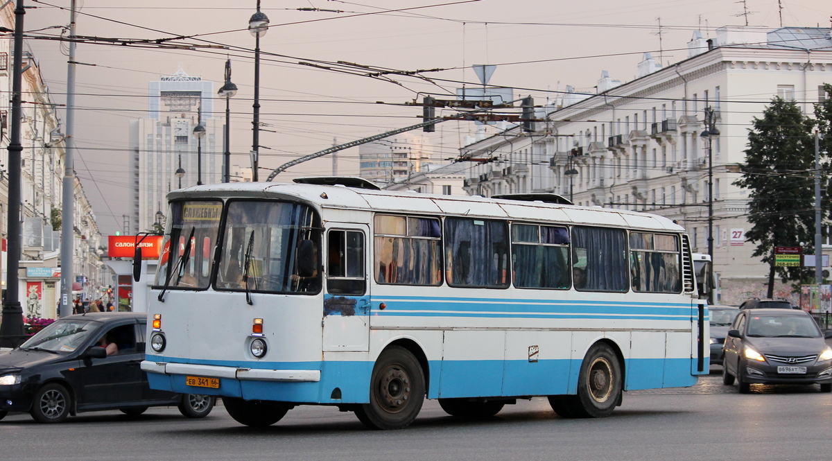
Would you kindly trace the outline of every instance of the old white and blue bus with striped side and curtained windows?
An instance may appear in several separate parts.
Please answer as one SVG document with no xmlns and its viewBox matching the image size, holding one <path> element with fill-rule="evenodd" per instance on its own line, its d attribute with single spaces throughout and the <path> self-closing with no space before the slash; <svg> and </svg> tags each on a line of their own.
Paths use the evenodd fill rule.
<svg viewBox="0 0 832 461">
<path fill-rule="evenodd" d="M 358 178 L 169 194 L 141 369 L 241 424 L 301 404 L 401 429 L 425 398 L 486 417 L 547 396 L 603 417 L 708 373 L 685 231 L 558 196 L 379 191 Z"/>
</svg>

